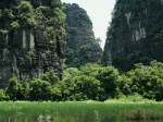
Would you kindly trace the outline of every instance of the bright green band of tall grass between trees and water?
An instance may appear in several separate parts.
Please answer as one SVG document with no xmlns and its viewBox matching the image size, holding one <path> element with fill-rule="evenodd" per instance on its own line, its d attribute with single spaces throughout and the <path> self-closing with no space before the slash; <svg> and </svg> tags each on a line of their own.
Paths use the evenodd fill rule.
<svg viewBox="0 0 163 122">
<path fill-rule="evenodd" d="M 163 102 L 30 102 L 1 101 L 0 117 L 51 114 L 59 117 L 92 118 L 108 120 L 163 120 Z"/>
</svg>

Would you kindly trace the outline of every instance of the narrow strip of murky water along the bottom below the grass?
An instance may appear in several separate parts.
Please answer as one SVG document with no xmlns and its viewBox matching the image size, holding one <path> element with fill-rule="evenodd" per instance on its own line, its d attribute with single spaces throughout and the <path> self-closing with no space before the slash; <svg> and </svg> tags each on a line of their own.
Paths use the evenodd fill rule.
<svg viewBox="0 0 163 122">
<path fill-rule="evenodd" d="M 121 120 L 121 119 L 109 119 L 109 118 L 97 118 L 96 115 L 73 115 L 73 117 L 61 117 L 54 115 L 53 120 L 38 120 L 37 115 L 34 117 L 3 117 L 0 118 L 0 122 L 163 122 L 163 120 Z"/>
</svg>

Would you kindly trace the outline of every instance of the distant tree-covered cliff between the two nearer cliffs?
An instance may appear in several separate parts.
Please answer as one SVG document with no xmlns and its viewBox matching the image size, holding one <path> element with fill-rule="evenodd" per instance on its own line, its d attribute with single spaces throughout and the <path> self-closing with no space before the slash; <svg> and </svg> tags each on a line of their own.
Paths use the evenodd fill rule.
<svg viewBox="0 0 163 122">
<path fill-rule="evenodd" d="M 65 64 L 67 66 L 80 66 L 85 63 L 98 63 L 102 49 L 95 38 L 92 23 L 87 12 L 78 4 L 63 4 L 66 9 L 66 49 Z"/>
</svg>

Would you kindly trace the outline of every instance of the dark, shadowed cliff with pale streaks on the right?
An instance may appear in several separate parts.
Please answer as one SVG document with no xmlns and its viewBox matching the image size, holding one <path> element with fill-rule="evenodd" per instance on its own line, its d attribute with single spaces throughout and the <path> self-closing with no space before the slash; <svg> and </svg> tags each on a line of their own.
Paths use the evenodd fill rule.
<svg viewBox="0 0 163 122">
<path fill-rule="evenodd" d="M 129 70 L 163 60 L 163 0 L 116 0 L 102 62 Z"/>
</svg>

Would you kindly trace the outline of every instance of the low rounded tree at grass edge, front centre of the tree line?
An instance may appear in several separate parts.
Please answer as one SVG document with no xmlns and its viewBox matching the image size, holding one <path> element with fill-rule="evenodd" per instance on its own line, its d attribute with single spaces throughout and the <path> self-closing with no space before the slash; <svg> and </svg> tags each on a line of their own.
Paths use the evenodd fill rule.
<svg viewBox="0 0 163 122">
<path fill-rule="evenodd" d="M 74 84 L 76 86 L 74 91 L 76 100 L 103 100 L 104 89 L 99 80 L 82 75 L 75 77 Z"/>
</svg>

